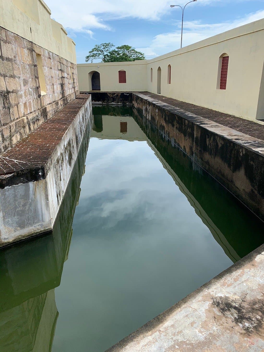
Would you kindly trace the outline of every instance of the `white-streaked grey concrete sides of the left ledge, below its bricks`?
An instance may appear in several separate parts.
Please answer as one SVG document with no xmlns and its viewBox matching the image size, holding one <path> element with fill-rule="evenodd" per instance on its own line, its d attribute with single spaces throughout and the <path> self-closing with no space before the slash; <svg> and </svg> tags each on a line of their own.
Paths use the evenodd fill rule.
<svg viewBox="0 0 264 352">
<path fill-rule="evenodd" d="M 40 179 L 0 190 L 0 246 L 52 230 L 87 124 L 90 128 L 90 99 L 81 107 L 44 169 L 39 169 Z"/>
</svg>

